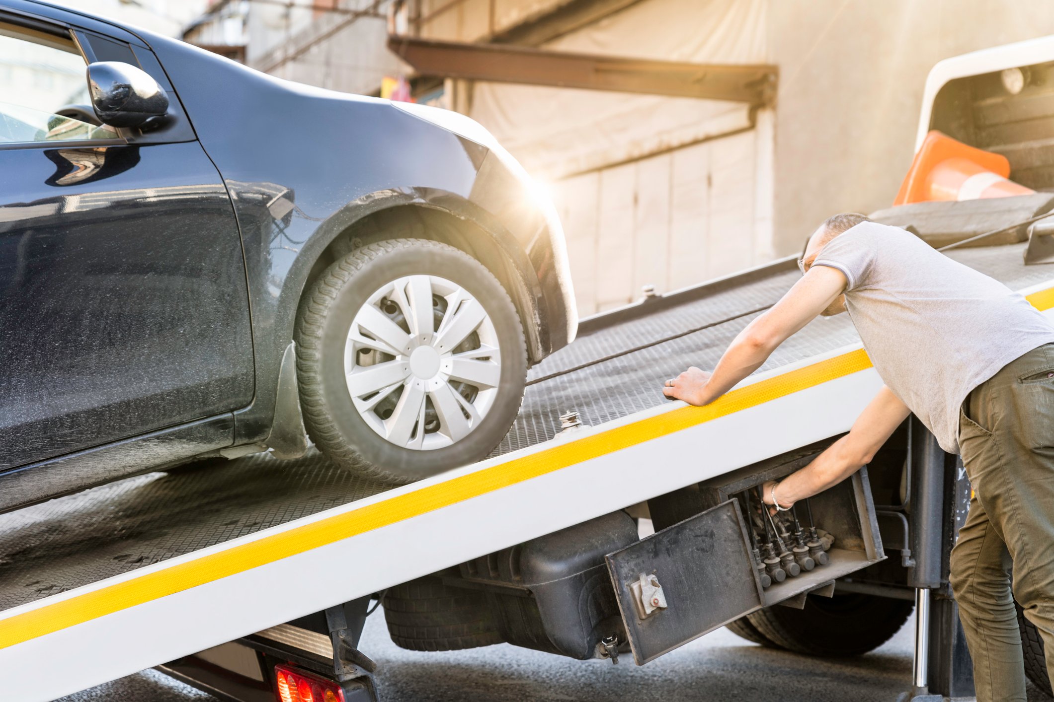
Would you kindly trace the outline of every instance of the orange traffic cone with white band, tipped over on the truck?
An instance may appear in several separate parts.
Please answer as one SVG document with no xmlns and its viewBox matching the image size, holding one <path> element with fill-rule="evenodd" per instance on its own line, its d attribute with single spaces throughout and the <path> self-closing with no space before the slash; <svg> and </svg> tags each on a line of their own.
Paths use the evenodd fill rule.
<svg viewBox="0 0 1054 702">
<path fill-rule="evenodd" d="M 934 129 L 900 184 L 894 205 L 932 200 L 978 200 L 1029 195 L 1010 176 L 1006 156 L 968 146 Z"/>
</svg>

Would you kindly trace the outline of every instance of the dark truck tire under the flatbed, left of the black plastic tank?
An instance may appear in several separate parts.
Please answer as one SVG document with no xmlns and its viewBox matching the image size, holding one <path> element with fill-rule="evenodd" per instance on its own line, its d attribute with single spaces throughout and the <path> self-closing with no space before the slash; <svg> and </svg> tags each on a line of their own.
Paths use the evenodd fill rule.
<svg viewBox="0 0 1054 702">
<path fill-rule="evenodd" d="M 384 597 L 388 634 L 409 650 L 461 650 L 503 643 L 483 590 L 450 587 L 426 576 Z"/>
</svg>

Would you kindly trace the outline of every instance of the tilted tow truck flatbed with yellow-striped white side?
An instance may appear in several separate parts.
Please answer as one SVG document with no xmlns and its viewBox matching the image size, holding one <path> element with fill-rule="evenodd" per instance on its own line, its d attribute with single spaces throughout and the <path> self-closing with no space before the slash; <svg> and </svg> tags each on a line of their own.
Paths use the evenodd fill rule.
<svg viewBox="0 0 1054 702">
<path fill-rule="evenodd" d="M 1054 267 L 1022 252 L 952 256 L 1054 308 Z M 0 670 L 47 671 L 5 695 L 90 687 L 846 430 L 881 381 L 844 315 L 707 407 L 662 396 L 797 276 L 787 260 L 587 320 L 492 457 L 413 485 L 256 456 L 0 516 Z M 592 426 L 558 436 L 568 409 Z"/>
</svg>

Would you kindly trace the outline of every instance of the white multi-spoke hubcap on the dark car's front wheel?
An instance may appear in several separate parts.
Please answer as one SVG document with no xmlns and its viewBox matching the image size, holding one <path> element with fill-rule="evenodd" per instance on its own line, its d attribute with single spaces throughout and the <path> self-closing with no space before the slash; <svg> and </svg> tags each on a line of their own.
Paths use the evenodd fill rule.
<svg viewBox="0 0 1054 702">
<path fill-rule="evenodd" d="M 345 344 L 359 416 L 397 446 L 449 446 L 493 405 L 502 375 L 494 325 L 463 287 L 438 276 L 382 286 L 355 314 Z"/>
</svg>

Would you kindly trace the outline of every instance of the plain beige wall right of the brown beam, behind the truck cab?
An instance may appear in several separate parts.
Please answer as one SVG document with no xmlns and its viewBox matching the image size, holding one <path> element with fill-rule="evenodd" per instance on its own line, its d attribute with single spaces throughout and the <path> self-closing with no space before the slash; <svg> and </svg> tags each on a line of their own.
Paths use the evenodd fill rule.
<svg viewBox="0 0 1054 702">
<path fill-rule="evenodd" d="M 937 61 L 1054 34 L 1054 2 L 769 0 L 768 19 L 780 67 L 775 236 L 786 255 L 832 214 L 892 204 Z"/>
</svg>

